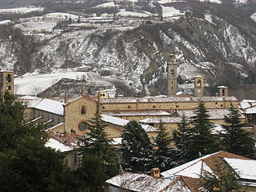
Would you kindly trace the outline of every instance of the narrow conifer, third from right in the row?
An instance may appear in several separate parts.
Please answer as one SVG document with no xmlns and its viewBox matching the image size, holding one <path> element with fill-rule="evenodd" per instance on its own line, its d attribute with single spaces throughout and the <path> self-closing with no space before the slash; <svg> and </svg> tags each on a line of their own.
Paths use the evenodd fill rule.
<svg viewBox="0 0 256 192">
<path fill-rule="evenodd" d="M 173 141 L 175 143 L 175 152 L 173 154 L 176 166 L 189 162 L 189 148 L 192 142 L 192 129 L 189 128 L 189 122 L 185 115 L 182 115 L 182 122 L 178 123 L 178 129 L 173 132 Z"/>
</svg>

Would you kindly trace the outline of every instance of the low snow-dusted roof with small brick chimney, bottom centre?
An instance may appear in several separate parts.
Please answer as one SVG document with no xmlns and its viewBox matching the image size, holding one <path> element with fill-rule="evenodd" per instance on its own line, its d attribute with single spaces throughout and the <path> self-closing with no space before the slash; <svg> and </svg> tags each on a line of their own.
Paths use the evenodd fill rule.
<svg viewBox="0 0 256 192">
<path fill-rule="evenodd" d="M 122 187 L 126 190 L 132 191 L 161 191 L 165 187 L 175 180 L 175 177 L 171 179 L 162 179 L 156 177 L 150 177 L 146 174 L 140 173 L 123 173 L 119 174 L 116 177 L 112 177 L 109 180 L 106 180 L 106 183 L 109 183 L 116 187 Z"/>
</svg>

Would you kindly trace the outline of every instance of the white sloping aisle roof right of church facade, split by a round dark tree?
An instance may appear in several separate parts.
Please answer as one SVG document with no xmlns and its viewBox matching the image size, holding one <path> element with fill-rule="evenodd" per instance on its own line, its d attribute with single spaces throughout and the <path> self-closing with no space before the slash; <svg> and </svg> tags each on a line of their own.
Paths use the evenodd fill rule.
<svg viewBox="0 0 256 192">
<path fill-rule="evenodd" d="M 123 119 L 123 118 L 116 118 L 110 115 L 104 115 L 102 114 L 102 121 L 104 122 L 109 122 L 113 125 L 119 125 L 124 127 L 128 122 L 130 122 L 129 120 Z M 155 129 L 154 127 L 150 126 L 150 125 L 141 125 L 141 127 L 146 131 L 146 132 L 157 132 L 157 129 Z"/>
</svg>

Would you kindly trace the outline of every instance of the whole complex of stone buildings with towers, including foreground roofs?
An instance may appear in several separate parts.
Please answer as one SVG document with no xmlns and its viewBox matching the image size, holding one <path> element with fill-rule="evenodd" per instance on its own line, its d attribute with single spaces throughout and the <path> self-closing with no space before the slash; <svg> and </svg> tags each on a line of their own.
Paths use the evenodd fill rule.
<svg viewBox="0 0 256 192">
<path fill-rule="evenodd" d="M 172 130 L 178 128 L 178 123 L 181 122 L 182 115 L 185 115 L 186 118 L 191 118 L 195 115 L 195 110 L 200 102 L 203 102 L 206 109 L 209 111 L 210 121 L 216 124 L 216 129 L 220 127 L 220 125 L 225 124 L 225 116 L 229 115 L 230 112 L 228 108 L 233 105 L 234 108 L 240 109 L 240 120 L 246 124 L 244 129 L 247 129 L 249 132 L 254 132 L 254 136 L 256 135 L 256 101 L 244 100 L 239 102 L 237 98 L 228 96 L 228 89 L 224 86 L 219 87 L 219 94 L 215 97 L 204 97 L 202 76 L 195 77 L 194 95 L 181 94 L 176 96 L 177 68 L 177 60 L 175 55 L 172 55 L 170 60 L 168 60 L 168 96 L 107 98 L 106 95 L 98 92 L 98 97 L 91 97 L 85 93 L 85 87 L 82 86 L 81 95 L 77 98 L 68 98 L 66 93 L 65 98 L 49 99 L 23 96 L 17 98 L 17 100 L 26 104 L 26 118 L 28 121 L 44 122 L 49 125 L 50 128 L 47 129 L 47 132 L 51 135 L 51 139 L 47 142 L 47 146 L 59 149 L 61 152 L 65 153 L 67 156 L 64 162 L 72 169 L 76 169 L 80 165 L 78 156 L 79 138 L 87 134 L 89 121 L 92 120 L 95 115 L 97 102 L 102 110 L 102 121 L 107 125 L 106 134 L 109 139 L 113 140 L 112 145 L 116 147 L 119 147 L 121 143 L 120 136 L 128 122 L 132 120 L 139 122 L 149 135 L 151 141 L 154 142 L 158 132 L 157 126 L 160 122 L 163 122 L 167 131 L 171 133 Z M 14 93 L 13 81 L 14 77 L 12 71 L 1 71 L 0 86 L 2 93 L 5 90 L 10 91 L 12 94 Z M 243 161 L 242 163 L 249 160 L 234 154 L 230 155 L 230 153 L 220 152 L 201 159 L 196 159 L 195 162 L 186 164 L 180 167 L 180 169 L 175 168 L 176 170 L 161 173 L 161 178 L 155 179 L 155 177 L 142 174 L 123 173 L 123 175 L 108 180 L 107 183 L 109 183 L 112 188 L 121 187 L 127 191 L 130 190 L 130 187 L 133 187 L 134 184 L 141 189 L 140 183 L 142 187 L 144 187 L 144 185 L 147 185 L 147 187 L 158 186 L 159 189 L 162 189 L 152 191 L 176 191 L 171 190 L 172 187 L 175 186 L 189 187 L 190 189 L 182 191 L 196 191 L 191 190 L 193 187 L 189 186 L 189 183 L 198 179 L 198 175 L 191 177 L 189 173 L 192 172 L 190 172 L 190 170 L 194 170 L 195 168 L 198 173 L 202 173 L 202 166 L 207 167 L 206 170 L 213 170 L 209 163 L 210 160 L 208 160 L 213 157 L 224 159 L 231 158 L 231 160 L 225 159 L 225 163 L 231 167 L 233 167 L 230 164 L 230 162 L 233 162 L 232 158 L 241 159 Z M 243 167 L 238 168 L 242 169 Z M 186 172 L 183 170 L 189 171 Z M 254 173 L 256 173 L 256 170 Z M 169 175 L 171 177 L 169 177 Z M 123 179 L 125 180 L 124 183 L 121 182 Z M 243 182 L 246 183 L 247 179 L 250 180 L 250 178 L 245 178 Z M 117 180 L 121 181 L 118 183 Z M 252 180 L 255 182 L 255 174 Z M 154 184 L 154 182 L 157 183 Z M 256 187 L 255 183 L 254 187 Z"/>
</svg>

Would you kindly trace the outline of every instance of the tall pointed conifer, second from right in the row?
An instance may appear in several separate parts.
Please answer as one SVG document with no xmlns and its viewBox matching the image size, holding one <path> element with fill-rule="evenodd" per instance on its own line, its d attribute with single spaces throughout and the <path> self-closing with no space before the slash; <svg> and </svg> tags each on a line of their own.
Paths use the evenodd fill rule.
<svg viewBox="0 0 256 192">
<path fill-rule="evenodd" d="M 201 102 L 195 111 L 195 116 L 190 122 L 192 125 L 191 137 L 189 139 L 189 160 L 205 156 L 209 153 L 218 151 L 218 141 L 216 135 L 212 134 L 213 123 L 209 122 L 208 111 L 205 105 Z"/>
</svg>

